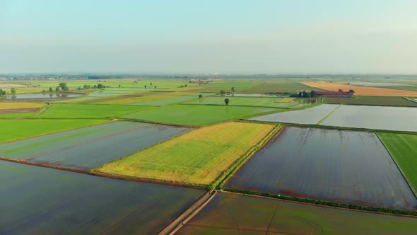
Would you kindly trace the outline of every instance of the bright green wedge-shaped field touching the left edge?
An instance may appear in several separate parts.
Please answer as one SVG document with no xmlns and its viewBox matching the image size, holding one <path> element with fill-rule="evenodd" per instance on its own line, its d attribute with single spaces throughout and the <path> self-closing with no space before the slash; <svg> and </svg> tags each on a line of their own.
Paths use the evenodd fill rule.
<svg viewBox="0 0 417 235">
<path fill-rule="evenodd" d="M 106 120 L 0 120 L 0 142 L 35 137 L 78 127 L 96 125 Z"/>
</svg>

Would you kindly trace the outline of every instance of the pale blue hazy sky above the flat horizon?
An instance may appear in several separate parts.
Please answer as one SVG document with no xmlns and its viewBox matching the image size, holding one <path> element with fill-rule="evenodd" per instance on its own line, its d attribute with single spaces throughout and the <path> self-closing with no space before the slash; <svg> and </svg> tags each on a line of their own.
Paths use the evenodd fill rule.
<svg viewBox="0 0 417 235">
<path fill-rule="evenodd" d="M 415 0 L 0 0 L 0 74 L 417 74 Z"/>
</svg>

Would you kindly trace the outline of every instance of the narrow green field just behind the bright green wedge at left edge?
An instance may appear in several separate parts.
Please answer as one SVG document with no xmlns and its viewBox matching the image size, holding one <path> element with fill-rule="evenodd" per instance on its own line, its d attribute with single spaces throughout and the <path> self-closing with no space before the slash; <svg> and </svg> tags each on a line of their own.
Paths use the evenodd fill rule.
<svg viewBox="0 0 417 235">
<path fill-rule="evenodd" d="M 33 117 L 83 117 L 100 118 L 114 117 L 146 109 L 145 106 L 133 105 L 84 105 L 84 104 L 57 104 L 47 108 L 44 113 Z"/>
</svg>

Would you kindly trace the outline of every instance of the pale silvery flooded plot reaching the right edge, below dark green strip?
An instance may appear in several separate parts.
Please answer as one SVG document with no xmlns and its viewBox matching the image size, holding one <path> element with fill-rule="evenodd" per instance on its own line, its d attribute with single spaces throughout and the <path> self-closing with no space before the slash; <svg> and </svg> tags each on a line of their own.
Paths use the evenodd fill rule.
<svg viewBox="0 0 417 235">
<path fill-rule="evenodd" d="M 343 105 L 322 125 L 417 132 L 417 108 Z"/>
</svg>

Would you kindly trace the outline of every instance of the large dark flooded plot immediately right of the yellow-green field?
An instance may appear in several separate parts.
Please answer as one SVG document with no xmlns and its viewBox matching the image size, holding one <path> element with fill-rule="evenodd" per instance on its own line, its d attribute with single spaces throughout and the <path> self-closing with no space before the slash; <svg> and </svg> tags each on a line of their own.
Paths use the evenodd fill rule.
<svg viewBox="0 0 417 235">
<path fill-rule="evenodd" d="M 416 210 L 417 200 L 375 133 L 288 127 L 228 188 Z"/>
</svg>

